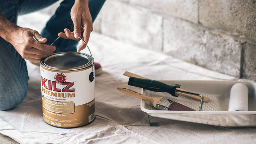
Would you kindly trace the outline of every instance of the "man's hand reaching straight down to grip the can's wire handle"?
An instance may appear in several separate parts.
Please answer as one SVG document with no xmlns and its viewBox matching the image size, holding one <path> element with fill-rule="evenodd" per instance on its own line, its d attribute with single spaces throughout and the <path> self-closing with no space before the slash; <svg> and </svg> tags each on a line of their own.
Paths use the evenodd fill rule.
<svg viewBox="0 0 256 144">
<path fill-rule="evenodd" d="M 83 40 L 88 43 L 93 30 L 88 1 L 89 0 L 75 0 L 75 4 L 70 12 L 71 19 L 74 23 L 74 31 L 70 32 L 70 30 L 66 28 L 64 29 L 65 33 L 59 33 L 58 36 L 76 41 L 83 38 Z M 82 45 L 78 47 L 78 51 L 81 51 L 85 47 L 86 45 L 82 42 Z"/>
</svg>

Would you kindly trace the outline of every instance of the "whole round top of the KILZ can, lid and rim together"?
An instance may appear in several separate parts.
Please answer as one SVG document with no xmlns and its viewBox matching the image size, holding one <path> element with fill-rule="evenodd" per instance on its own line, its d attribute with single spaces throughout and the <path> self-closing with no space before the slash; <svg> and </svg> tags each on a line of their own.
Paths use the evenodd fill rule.
<svg viewBox="0 0 256 144">
<path fill-rule="evenodd" d="M 55 53 L 41 59 L 41 66 L 52 70 L 78 70 L 92 65 L 91 56 L 79 52 Z"/>
</svg>

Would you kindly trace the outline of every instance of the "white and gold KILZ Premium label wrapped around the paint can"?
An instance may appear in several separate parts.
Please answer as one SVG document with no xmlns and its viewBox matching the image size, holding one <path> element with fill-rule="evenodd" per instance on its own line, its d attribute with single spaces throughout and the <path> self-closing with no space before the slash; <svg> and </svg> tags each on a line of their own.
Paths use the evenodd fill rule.
<svg viewBox="0 0 256 144">
<path fill-rule="evenodd" d="M 53 71 L 41 68 L 44 121 L 56 127 L 86 125 L 95 118 L 92 67 L 78 71 Z"/>
</svg>

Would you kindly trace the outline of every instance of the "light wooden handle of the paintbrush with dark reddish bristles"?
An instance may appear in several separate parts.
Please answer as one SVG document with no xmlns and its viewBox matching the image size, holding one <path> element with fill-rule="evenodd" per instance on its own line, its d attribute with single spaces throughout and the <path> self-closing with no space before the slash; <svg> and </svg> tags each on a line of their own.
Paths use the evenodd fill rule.
<svg viewBox="0 0 256 144">
<path fill-rule="evenodd" d="M 124 93 L 126 95 L 129 95 L 129 96 L 132 96 L 132 97 L 135 97 L 135 98 L 140 98 L 140 99 L 149 101 L 154 107 L 156 106 L 157 102 L 160 99 L 163 98 L 163 97 L 161 97 L 161 98 L 151 98 L 151 97 L 145 96 L 145 95 L 143 95 L 141 93 L 138 93 L 136 91 L 133 91 L 131 89 L 122 88 L 122 87 L 117 87 L 117 90 L 121 91 L 122 93 Z"/>
</svg>

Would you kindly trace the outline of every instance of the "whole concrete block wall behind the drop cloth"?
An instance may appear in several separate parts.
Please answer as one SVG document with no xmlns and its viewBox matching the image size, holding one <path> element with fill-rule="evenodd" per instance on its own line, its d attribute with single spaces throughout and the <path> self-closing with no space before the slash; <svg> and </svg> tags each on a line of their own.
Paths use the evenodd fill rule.
<svg viewBox="0 0 256 144">
<path fill-rule="evenodd" d="M 106 0 L 94 30 L 256 80 L 255 0 Z"/>
</svg>

